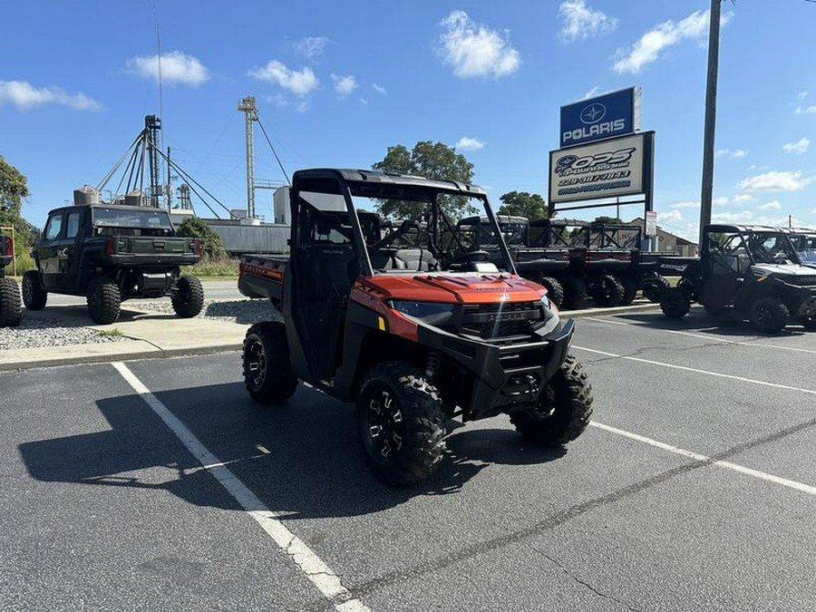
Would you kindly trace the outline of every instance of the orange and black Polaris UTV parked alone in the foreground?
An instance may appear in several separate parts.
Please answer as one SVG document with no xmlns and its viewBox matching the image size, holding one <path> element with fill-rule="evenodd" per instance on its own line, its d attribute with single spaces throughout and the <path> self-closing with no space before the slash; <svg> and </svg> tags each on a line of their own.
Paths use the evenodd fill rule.
<svg viewBox="0 0 816 612">
<path fill-rule="evenodd" d="M 561 445 L 587 427 L 592 392 L 568 354 L 574 331 L 543 287 L 519 277 L 485 192 L 456 181 L 368 170 L 299 170 L 290 188 L 291 256 L 242 258 L 238 287 L 279 305 L 253 325 L 243 373 L 258 403 L 299 380 L 355 401 L 364 455 L 395 486 L 442 461 L 445 422 L 500 413 L 530 442 Z M 390 231 L 364 210 L 412 211 Z M 486 219 L 497 254 L 455 231 Z M 489 260 L 492 259 L 492 260 Z"/>
</svg>

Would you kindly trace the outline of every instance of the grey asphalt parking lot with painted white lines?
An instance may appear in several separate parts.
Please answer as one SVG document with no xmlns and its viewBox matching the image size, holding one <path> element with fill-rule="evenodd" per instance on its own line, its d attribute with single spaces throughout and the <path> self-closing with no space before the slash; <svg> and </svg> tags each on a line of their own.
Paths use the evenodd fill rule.
<svg viewBox="0 0 816 612">
<path fill-rule="evenodd" d="M 239 355 L 0 373 L 0 610 L 816 609 L 816 334 L 578 320 L 563 451 L 452 423 L 396 491 L 352 407 Z"/>
</svg>

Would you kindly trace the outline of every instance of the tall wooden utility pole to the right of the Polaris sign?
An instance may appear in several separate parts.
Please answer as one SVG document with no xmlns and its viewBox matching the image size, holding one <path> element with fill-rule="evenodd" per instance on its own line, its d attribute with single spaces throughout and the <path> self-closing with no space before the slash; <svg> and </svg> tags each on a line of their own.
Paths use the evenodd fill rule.
<svg viewBox="0 0 816 612">
<path fill-rule="evenodd" d="M 708 27 L 708 80 L 705 86 L 705 132 L 703 143 L 703 191 L 700 197 L 700 248 L 703 228 L 711 223 L 711 199 L 714 190 L 714 131 L 717 118 L 717 67 L 720 56 L 720 3 L 711 0 Z"/>
</svg>

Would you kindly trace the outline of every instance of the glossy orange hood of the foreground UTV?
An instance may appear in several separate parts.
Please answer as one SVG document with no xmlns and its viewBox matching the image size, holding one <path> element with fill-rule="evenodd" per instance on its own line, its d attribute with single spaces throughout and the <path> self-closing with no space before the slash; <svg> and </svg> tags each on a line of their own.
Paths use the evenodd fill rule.
<svg viewBox="0 0 816 612">
<path fill-rule="evenodd" d="M 529 280 L 508 274 L 393 275 L 366 277 L 362 282 L 383 293 L 385 299 L 444 304 L 532 302 L 546 291 Z"/>
</svg>

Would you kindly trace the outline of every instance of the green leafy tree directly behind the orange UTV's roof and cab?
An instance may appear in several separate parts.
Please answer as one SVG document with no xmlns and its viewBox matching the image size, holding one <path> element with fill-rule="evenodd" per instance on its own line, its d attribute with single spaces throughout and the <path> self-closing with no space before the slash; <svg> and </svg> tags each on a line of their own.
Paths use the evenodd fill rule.
<svg viewBox="0 0 816 612">
<path fill-rule="evenodd" d="M 382 161 L 372 164 L 373 170 L 413 174 L 426 179 L 459 180 L 470 184 L 473 180 L 473 164 L 456 149 L 443 142 L 420 141 L 413 150 L 402 144 L 388 147 Z M 445 215 L 458 219 L 469 209 L 468 200 L 446 196 L 441 200 Z M 399 199 L 387 199 L 377 205 L 377 211 L 384 217 L 412 219 L 424 209 L 423 204 Z"/>
</svg>

